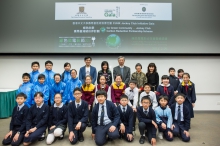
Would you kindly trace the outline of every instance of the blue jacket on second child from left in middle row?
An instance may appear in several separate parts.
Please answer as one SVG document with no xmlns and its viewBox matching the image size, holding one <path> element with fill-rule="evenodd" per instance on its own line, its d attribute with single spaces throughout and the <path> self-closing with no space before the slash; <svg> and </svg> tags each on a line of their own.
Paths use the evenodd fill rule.
<svg viewBox="0 0 220 146">
<path fill-rule="evenodd" d="M 48 85 L 46 85 L 45 83 L 41 84 L 41 83 L 37 82 L 36 85 L 34 86 L 34 94 L 36 92 L 42 92 L 44 95 L 44 103 L 48 104 L 48 100 L 49 100 L 49 87 L 48 87 Z M 32 100 L 32 104 L 35 104 L 34 99 Z"/>
</svg>

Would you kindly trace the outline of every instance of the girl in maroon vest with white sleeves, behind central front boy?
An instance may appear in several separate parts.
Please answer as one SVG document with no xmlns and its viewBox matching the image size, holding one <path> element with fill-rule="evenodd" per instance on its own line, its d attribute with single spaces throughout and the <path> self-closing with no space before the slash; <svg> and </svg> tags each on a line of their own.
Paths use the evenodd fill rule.
<svg viewBox="0 0 220 146">
<path fill-rule="evenodd" d="M 104 90 L 106 91 L 107 93 L 107 100 L 111 101 L 111 88 L 108 84 L 106 84 L 106 78 L 104 75 L 101 75 L 99 77 L 99 83 L 98 85 L 96 85 L 96 88 L 95 88 L 95 94 L 98 90 Z M 95 95 L 96 97 L 96 95 Z M 98 103 L 98 100 L 95 98 L 95 104 Z"/>
</svg>

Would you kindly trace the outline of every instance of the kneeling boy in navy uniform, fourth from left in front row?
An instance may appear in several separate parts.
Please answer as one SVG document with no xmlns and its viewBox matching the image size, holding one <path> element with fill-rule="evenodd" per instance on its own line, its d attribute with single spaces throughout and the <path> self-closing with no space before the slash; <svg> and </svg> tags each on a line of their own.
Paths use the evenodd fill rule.
<svg viewBox="0 0 220 146">
<path fill-rule="evenodd" d="M 73 94 L 75 100 L 68 105 L 68 127 L 70 143 L 76 144 L 77 141 L 84 141 L 83 132 L 86 129 L 89 111 L 88 103 L 81 99 L 81 89 L 76 87 Z"/>
</svg>

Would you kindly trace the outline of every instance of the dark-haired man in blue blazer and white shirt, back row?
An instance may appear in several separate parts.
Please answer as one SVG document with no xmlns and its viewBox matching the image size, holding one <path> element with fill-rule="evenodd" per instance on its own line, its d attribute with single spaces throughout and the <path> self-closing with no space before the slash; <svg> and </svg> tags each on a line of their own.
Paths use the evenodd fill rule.
<svg viewBox="0 0 220 146">
<path fill-rule="evenodd" d="M 96 72 L 96 68 L 91 66 L 92 57 L 87 56 L 84 58 L 84 61 L 86 65 L 81 67 L 79 70 L 79 80 L 82 82 L 82 84 L 84 84 L 85 77 L 87 75 L 90 75 L 92 77 L 92 84 L 95 84 L 97 72 Z"/>
</svg>

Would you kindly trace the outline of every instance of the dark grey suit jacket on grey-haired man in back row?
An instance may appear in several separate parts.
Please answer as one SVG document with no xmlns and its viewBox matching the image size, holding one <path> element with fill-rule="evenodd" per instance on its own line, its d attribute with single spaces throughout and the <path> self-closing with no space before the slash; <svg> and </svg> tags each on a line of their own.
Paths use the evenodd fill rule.
<svg viewBox="0 0 220 146">
<path fill-rule="evenodd" d="M 129 81 L 130 81 L 130 76 L 131 76 L 131 70 L 130 70 L 130 68 L 127 67 L 127 66 L 124 66 L 123 69 L 124 69 L 124 70 L 123 70 L 123 75 L 122 75 L 122 82 L 124 82 L 124 83 L 126 84 L 126 86 L 128 87 L 128 83 L 129 83 Z M 113 77 L 114 77 L 114 79 L 115 79 L 115 76 L 116 76 L 117 74 L 121 74 L 121 68 L 120 68 L 120 66 L 116 66 L 116 67 L 114 67 L 114 69 L 113 69 Z"/>
</svg>

